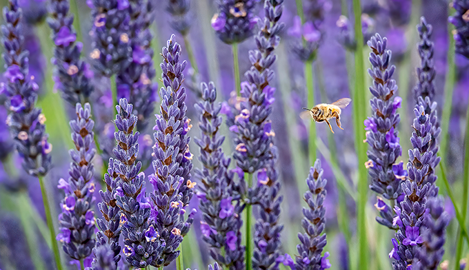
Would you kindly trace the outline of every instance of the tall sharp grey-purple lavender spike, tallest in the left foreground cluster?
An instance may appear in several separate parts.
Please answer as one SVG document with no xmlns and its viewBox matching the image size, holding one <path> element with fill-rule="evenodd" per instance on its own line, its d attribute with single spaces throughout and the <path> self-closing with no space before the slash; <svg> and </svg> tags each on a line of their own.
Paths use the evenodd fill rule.
<svg viewBox="0 0 469 270">
<path fill-rule="evenodd" d="M 179 63 L 181 46 L 174 38 L 173 34 L 161 54 L 164 87 L 160 90 L 160 114 L 154 127 L 157 142 L 153 152 L 154 174 L 148 176 L 154 188 L 150 194 L 154 229 L 166 242 L 163 249 L 165 266 L 179 256 L 177 247 L 188 233 L 195 214 L 192 210 L 188 219 L 183 220 L 196 183 L 190 180 L 193 156 L 189 151 L 190 119 L 186 116 L 186 88 L 182 86 L 187 62 Z M 154 267 L 163 264 L 152 263 Z"/>
</svg>

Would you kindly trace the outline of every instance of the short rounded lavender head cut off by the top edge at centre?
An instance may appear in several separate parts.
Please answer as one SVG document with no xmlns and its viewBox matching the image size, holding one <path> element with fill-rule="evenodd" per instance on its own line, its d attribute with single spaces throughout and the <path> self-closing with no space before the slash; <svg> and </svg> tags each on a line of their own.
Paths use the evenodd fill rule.
<svg viewBox="0 0 469 270">
<path fill-rule="evenodd" d="M 212 28 L 224 43 L 240 43 L 252 36 L 256 25 L 255 0 L 217 0 L 219 12 L 212 18 Z"/>
</svg>

